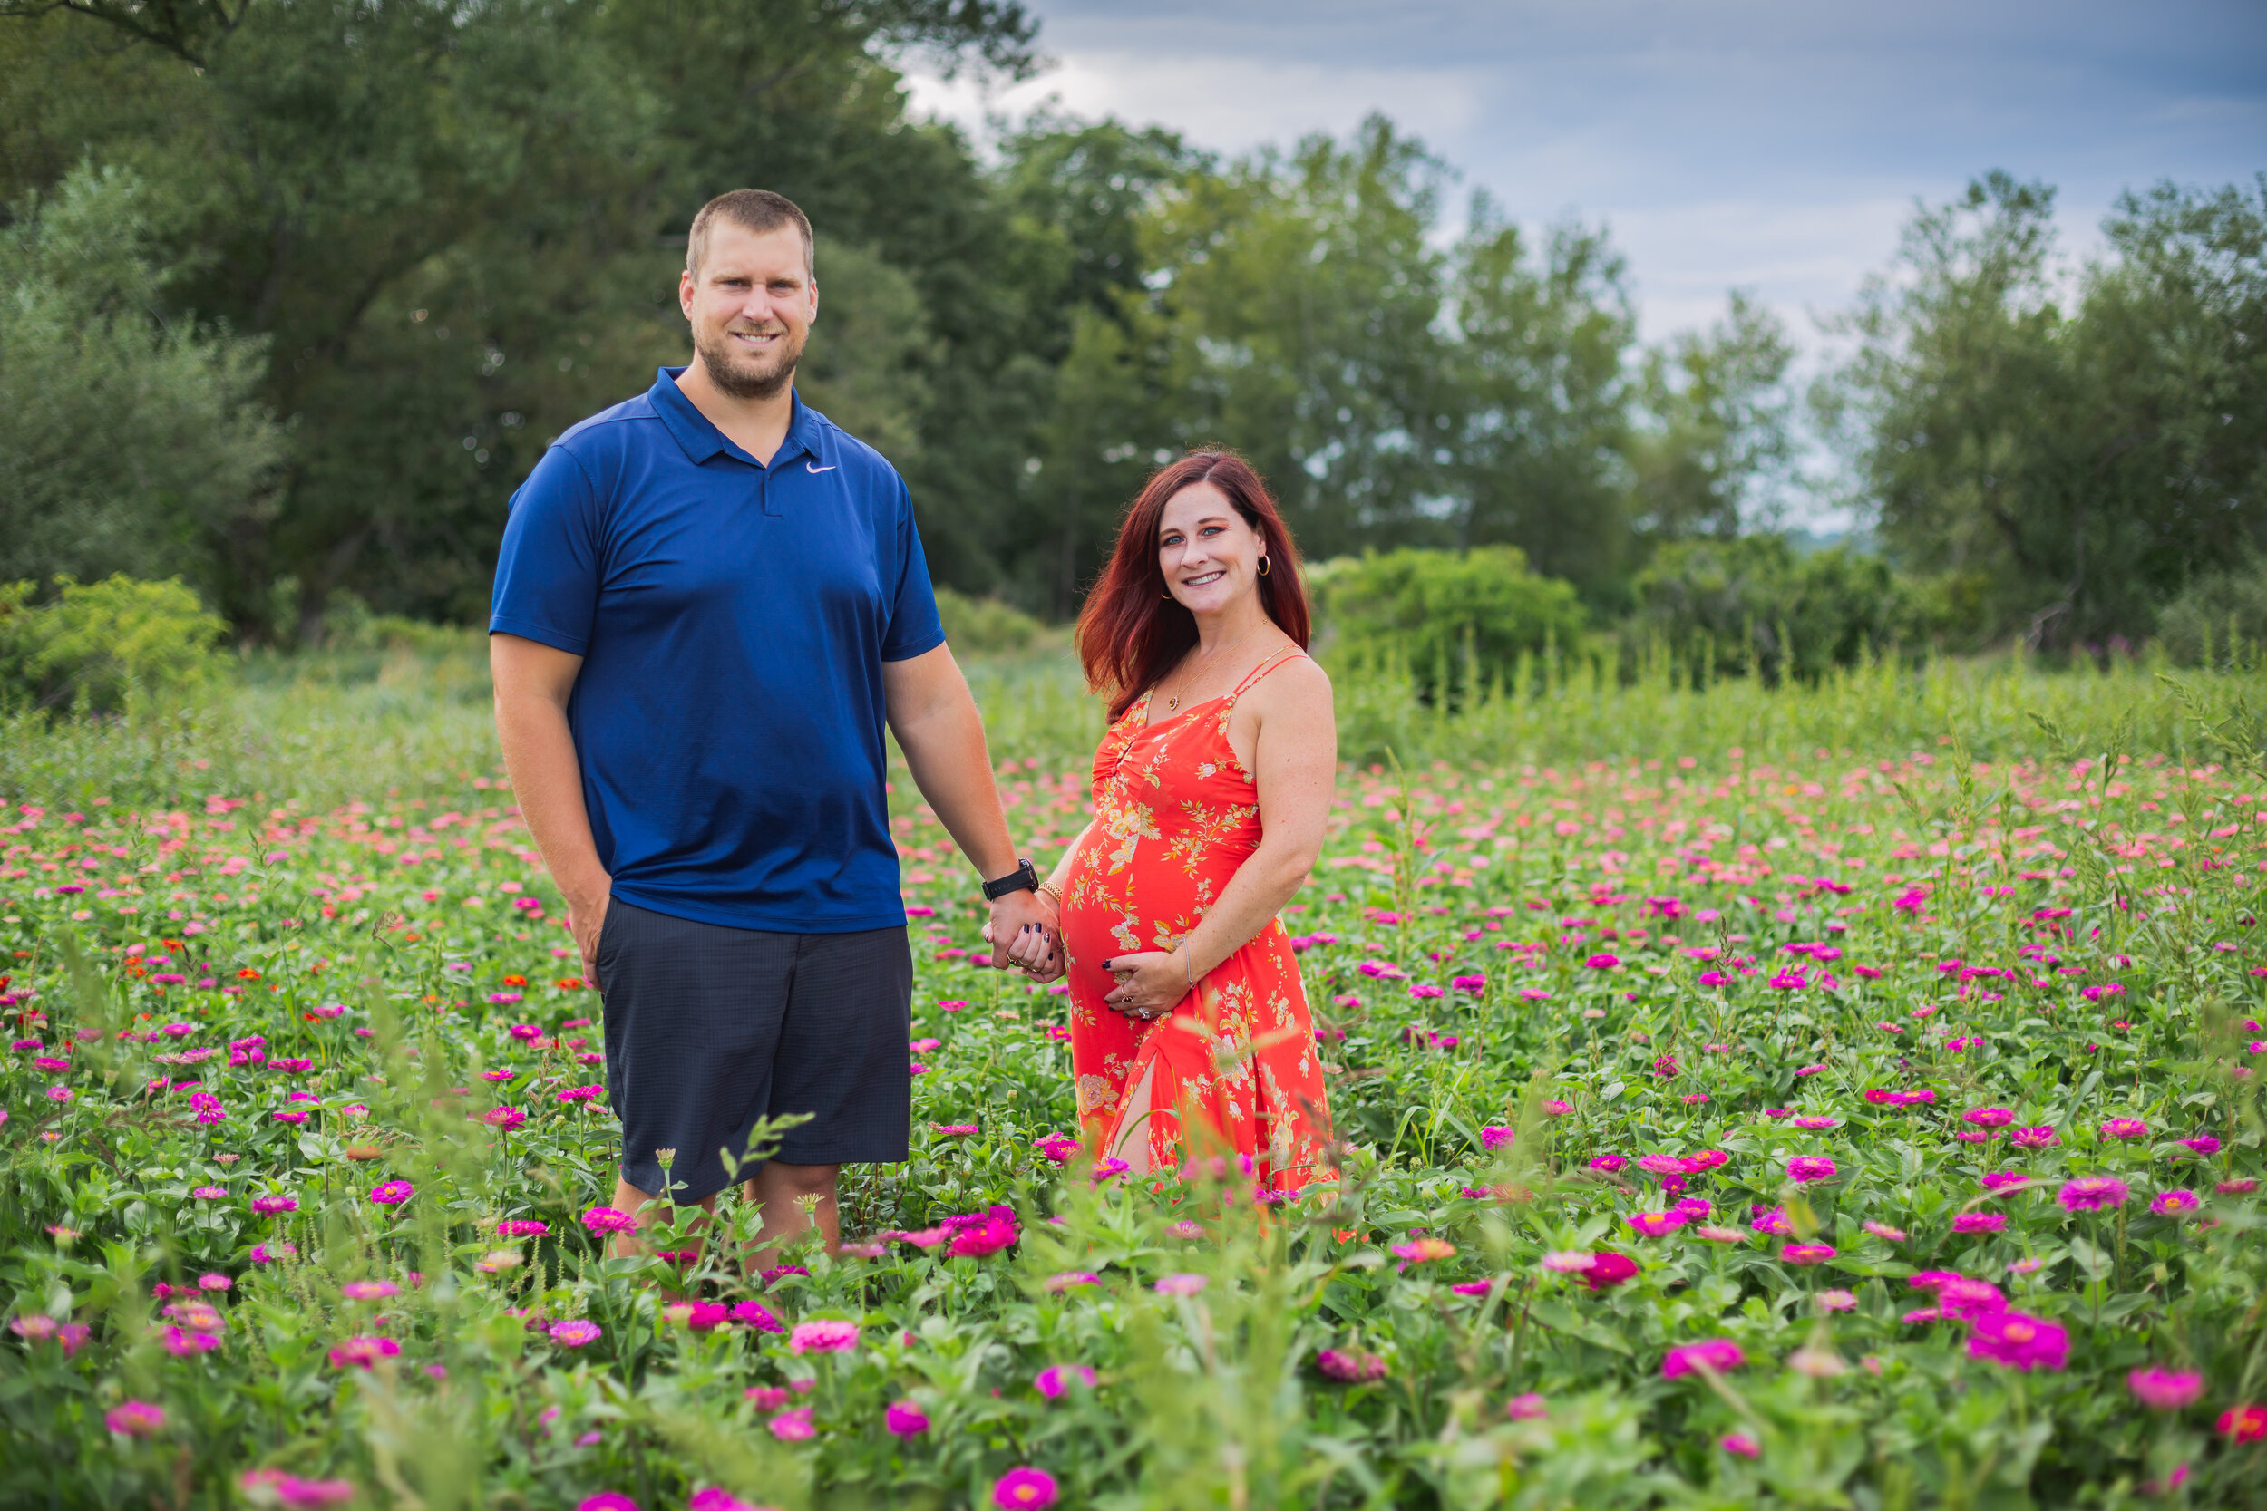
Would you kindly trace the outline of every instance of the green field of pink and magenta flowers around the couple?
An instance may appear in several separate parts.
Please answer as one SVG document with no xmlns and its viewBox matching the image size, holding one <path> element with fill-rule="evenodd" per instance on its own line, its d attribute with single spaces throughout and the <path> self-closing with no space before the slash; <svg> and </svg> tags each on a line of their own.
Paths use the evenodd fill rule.
<svg viewBox="0 0 2267 1511">
<path fill-rule="evenodd" d="M 1283 1205 L 1095 1167 L 898 793 L 916 1153 L 755 1278 L 603 1257 L 492 777 L 16 804 L 0 1504 L 2267 1504 L 2267 777 L 1442 741 L 1285 915 L 1342 1149 Z M 1054 854 L 1084 772 L 1004 748 Z"/>
</svg>

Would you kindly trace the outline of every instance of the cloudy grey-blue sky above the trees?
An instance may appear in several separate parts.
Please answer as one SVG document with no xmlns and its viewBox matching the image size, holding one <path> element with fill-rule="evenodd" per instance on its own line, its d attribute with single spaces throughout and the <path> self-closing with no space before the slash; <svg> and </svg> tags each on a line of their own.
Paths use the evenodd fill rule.
<svg viewBox="0 0 2267 1511">
<path fill-rule="evenodd" d="M 1378 109 L 1521 222 L 1605 220 L 1648 338 L 1741 285 L 1809 342 L 1988 168 L 2058 186 L 2072 251 L 2126 186 L 2267 170 L 2267 0 L 1025 2 L 1045 75 L 916 77 L 916 109 L 1054 97 L 1231 154 Z"/>
</svg>

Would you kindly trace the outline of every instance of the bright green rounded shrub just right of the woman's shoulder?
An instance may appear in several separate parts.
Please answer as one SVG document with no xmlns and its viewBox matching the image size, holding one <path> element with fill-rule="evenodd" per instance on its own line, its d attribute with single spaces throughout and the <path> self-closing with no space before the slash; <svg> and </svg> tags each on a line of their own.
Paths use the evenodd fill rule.
<svg viewBox="0 0 2267 1511">
<path fill-rule="evenodd" d="M 1508 680 L 1521 655 L 1582 632 L 1573 584 L 1528 571 L 1517 546 L 1387 550 L 1324 562 L 1308 580 L 1333 655 L 1408 666 L 1426 702 L 1460 705 Z"/>
</svg>

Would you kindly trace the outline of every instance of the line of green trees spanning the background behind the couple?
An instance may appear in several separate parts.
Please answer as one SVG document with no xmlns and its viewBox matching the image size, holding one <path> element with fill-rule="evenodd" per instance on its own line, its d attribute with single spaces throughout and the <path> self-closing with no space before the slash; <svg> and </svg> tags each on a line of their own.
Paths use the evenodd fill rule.
<svg viewBox="0 0 2267 1511">
<path fill-rule="evenodd" d="M 1870 616 L 1791 646 L 2267 623 L 2267 177 L 2131 195 L 2079 270 L 2045 186 L 1916 208 L 1802 394 L 1739 292 L 1641 344 L 1601 227 L 1476 195 L 1444 236 L 1385 120 L 1238 161 L 907 120 L 900 61 L 1034 43 L 1013 0 L 0 0 L 0 582 L 181 575 L 245 639 L 478 618 L 503 498 L 685 360 L 685 224 L 753 183 L 818 224 L 805 396 L 907 473 L 941 582 L 1045 618 L 1222 442 L 1315 560 L 1512 546 L 1571 584 L 1535 623 L 1743 664 L 1784 594 Z M 1818 489 L 1886 564 L 1741 541 Z"/>
</svg>

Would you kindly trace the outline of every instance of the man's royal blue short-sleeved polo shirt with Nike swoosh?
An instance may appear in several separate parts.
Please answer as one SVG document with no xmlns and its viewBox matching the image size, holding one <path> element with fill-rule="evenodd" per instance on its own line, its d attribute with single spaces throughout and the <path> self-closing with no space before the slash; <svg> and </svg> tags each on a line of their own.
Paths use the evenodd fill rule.
<svg viewBox="0 0 2267 1511">
<path fill-rule="evenodd" d="M 945 639 L 914 501 L 800 399 L 759 464 L 680 372 L 512 494 L 487 628 L 583 657 L 567 725 L 617 897 L 732 929 L 902 927 L 882 664 Z"/>
</svg>

